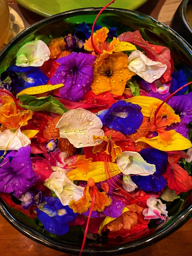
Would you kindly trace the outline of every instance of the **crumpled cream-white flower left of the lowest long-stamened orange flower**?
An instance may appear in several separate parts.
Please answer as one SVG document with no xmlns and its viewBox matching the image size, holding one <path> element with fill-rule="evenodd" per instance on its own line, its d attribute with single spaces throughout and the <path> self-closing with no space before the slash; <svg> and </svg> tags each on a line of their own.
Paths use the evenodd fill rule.
<svg viewBox="0 0 192 256">
<path fill-rule="evenodd" d="M 51 173 L 44 185 L 55 192 L 63 205 L 68 205 L 71 199 L 78 201 L 83 196 L 84 188 L 75 185 L 62 171 Z"/>
</svg>

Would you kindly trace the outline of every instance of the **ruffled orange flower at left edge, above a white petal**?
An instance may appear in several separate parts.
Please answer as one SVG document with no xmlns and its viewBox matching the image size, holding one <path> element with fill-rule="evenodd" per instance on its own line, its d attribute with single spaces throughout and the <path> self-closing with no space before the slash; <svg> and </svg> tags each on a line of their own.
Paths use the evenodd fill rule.
<svg viewBox="0 0 192 256">
<path fill-rule="evenodd" d="M 32 118 L 31 110 L 18 110 L 13 99 L 9 96 L 2 96 L 2 107 L 0 108 L 0 123 L 10 130 L 16 130 L 20 126 L 27 125 Z"/>
</svg>

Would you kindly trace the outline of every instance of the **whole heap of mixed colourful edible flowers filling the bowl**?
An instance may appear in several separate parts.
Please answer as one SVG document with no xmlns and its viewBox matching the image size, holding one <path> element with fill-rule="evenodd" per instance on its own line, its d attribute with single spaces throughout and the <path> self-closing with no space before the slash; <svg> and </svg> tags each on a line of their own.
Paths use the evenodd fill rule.
<svg viewBox="0 0 192 256">
<path fill-rule="evenodd" d="M 0 75 L 0 196 L 51 234 L 81 226 L 81 253 L 147 234 L 192 189 L 186 71 L 139 31 L 90 31 L 27 42 Z"/>
</svg>

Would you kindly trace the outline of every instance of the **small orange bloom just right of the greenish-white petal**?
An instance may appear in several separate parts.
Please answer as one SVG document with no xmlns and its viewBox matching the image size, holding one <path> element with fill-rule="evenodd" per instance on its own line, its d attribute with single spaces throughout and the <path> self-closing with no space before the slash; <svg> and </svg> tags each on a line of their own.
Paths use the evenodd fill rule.
<svg viewBox="0 0 192 256">
<path fill-rule="evenodd" d="M 55 59 L 70 55 L 71 53 L 66 50 L 65 45 L 63 37 L 51 39 L 48 45 L 51 53 L 50 58 Z"/>
</svg>

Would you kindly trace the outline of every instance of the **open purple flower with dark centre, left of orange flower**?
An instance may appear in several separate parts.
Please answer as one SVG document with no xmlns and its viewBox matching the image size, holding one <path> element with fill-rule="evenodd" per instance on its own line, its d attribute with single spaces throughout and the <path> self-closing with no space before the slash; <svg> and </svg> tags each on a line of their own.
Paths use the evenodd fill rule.
<svg viewBox="0 0 192 256">
<path fill-rule="evenodd" d="M 81 100 L 86 91 L 91 90 L 95 56 L 73 53 L 57 60 L 61 65 L 51 77 L 51 85 L 63 83 L 60 94 L 72 101 Z"/>
</svg>

